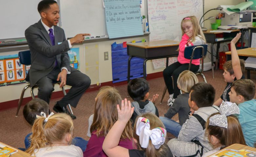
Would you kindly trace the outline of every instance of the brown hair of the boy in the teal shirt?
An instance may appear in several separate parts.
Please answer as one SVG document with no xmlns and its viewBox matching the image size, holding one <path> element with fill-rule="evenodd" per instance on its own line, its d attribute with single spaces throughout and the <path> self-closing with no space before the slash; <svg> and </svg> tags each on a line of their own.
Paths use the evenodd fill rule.
<svg viewBox="0 0 256 157">
<path fill-rule="evenodd" d="M 232 83 L 231 88 L 236 92 L 236 95 L 242 95 L 245 101 L 252 100 L 255 96 L 255 84 L 250 79 L 240 79 Z"/>
</svg>

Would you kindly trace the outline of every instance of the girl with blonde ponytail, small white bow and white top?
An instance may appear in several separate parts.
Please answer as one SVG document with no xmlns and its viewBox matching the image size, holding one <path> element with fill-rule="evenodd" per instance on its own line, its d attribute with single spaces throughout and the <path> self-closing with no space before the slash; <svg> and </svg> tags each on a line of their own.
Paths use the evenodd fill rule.
<svg viewBox="0 0 256 157">
<path fill-rule="evenodd" d="M 65 113 L 52 112 L 48 117 L 41 112 L 32 127 L 31 145 L 27 153 L 36 157 L 82 157 L 82 150 L 70 145 L 74 125 Z"/>
</svg>

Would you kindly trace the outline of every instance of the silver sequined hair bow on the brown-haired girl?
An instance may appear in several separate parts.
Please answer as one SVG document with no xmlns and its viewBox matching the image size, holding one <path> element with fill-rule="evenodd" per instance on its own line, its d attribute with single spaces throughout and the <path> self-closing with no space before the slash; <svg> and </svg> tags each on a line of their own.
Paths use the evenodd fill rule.
<svg viewBox="0 0 256 157">
<path fill-rule="evenodd" d="M 227 128 L 227 116 L 240 114 L 239 107 L 236 103 L 224 102 L 220 106 L 220 115 L 214 115 L 209 119 L 209 125 Z"/>
</svg>

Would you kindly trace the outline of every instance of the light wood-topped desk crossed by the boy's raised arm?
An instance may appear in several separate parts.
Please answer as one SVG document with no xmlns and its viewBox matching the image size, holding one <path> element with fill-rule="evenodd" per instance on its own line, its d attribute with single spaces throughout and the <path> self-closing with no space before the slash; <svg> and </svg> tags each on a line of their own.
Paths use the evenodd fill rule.
<svg viewBox="0 0 256 157">
<path fill-rule="evenodd" d="M 226 52 L 225 54 L 231 55 L 231 51 Z M 246 49 L 240 49 L 240 50 L 237 50 L 237 54 L 239 56 L 245 56 L 245 57 L 256 57 L 256 48 L 249 47 Z M 247 79 L 250 79 L 250 70 L 255 71 L 255 68 L 246 67 L 245 69 L 247 70 Z"/>
</svg>

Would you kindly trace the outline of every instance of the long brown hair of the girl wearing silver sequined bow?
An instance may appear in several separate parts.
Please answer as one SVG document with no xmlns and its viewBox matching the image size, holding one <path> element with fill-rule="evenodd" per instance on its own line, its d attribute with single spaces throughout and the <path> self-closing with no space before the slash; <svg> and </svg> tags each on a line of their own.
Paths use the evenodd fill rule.
<svg viewBox="0 0 256 157">
<path fill-rule="evenodd" d="M 220 113 L 218 112 L 212 114 L 210 117 L 217 114 L 220 115 Z M 227 116 L 227 128 L 209 125 L 209 118 L 205 123 L 205 134 L 206 136 L 208 136 L 208 138 L 210 138 L 211 135 L 215 136 L 217 139 L 220 140 L 220 146 L 225 147 L 228 147 L 235 143 L 246 145 L 241 125 L 235 116 Z"/>
</svg>

